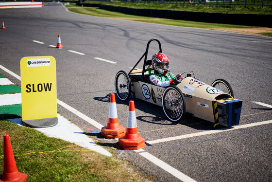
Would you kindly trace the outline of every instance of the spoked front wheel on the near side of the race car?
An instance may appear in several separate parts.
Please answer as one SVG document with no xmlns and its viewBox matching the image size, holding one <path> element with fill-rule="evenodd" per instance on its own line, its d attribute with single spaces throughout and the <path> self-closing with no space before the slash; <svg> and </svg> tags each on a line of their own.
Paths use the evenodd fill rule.
<svg viewBox="0 0 272 182">
<path fill-rule="evenodd" d="M 186 103 L 182 91 L 174 86 L 167 87 L 162 94 L 162 108 L 171 121 L 182 120 L 186 112 Z"/>
</svg>

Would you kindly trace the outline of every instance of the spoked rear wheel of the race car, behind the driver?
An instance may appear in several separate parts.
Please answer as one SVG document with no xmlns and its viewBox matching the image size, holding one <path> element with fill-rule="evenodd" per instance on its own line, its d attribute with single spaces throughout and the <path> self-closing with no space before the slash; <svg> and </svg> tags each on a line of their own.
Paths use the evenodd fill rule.
<svg viewBox="0 0 272 182">
<path fill-rule="evenodd" d="M 115 91 L 120 100 L 126 101 L 131 94 L 130 78 L 124 71 L 119 71 L 115 76 Z"/>
</svg>

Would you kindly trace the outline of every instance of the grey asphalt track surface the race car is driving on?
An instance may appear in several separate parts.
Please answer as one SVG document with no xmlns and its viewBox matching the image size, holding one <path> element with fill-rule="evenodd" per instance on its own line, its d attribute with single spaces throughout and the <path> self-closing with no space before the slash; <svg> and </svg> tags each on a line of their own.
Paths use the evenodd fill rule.
<svg viewBox="0 0 272 182">
<path fill-rule="evenodd" d="M 170 56 L 172 73 L 192 70 L 204 83 L 223 78 L 231 84 L 235 97 L 243 101 L 238 126 L 244 127 L 213 128 L 211 123 L 189 115 L 179 124 L 172 123 L 162 108 L 131 97 L 148 154 L 116 149 L 115 155 L 163 182 L 179 179 L 151 162 L 153 157 L 198 182 L 271 181 L 272 38 L 90 17 L 67 12 L 57 3 L 0 10 L 0 18 L 7 28 L 0 30 L 0 65 L 20 75 L 22 57 L 52 55 L 57 61 L 57 98 L 102 126 L 107 123 L 116 73 L 129 72 L 148 40 L 159 39 L 163 52 Z M 58 34 L 64 46 L 61 50 L 50 46 L 57 44 Z M 149 57 L 157 51 L 157 45 L 152 44 Z M 1 69 L 0 73 L 20 86 L 11 74 Z M 57 109 L 94 139 L 102 138 L 95 126 L 59 104 Z M 126 127 L 128 102 L 117 99 L 117 110 L 120 125 Z M 270 122 L 259 123 L 263 121 Z M 255 123 L 263 125 L 250 125 Z M 204 131 L 207 134 L 193 134 Z M 164 138 L 168 139 L 154 143 Z M 106 147 L 117 144 L 116 140 L 101 142 Z"/>
</svg>

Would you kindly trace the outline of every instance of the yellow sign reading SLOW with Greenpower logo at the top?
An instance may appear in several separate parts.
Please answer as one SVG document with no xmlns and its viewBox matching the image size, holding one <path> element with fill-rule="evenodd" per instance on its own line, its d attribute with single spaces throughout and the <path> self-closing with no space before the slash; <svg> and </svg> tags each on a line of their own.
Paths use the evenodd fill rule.
<svg viewBox="0 0 272 182">
<path fill-rule="evenodd" d="M 55 58 L 52 56 L 23 57 L 20 61 L 20 68 L 22 120 L 56 118 L 57 81 Z"/>
</svg>

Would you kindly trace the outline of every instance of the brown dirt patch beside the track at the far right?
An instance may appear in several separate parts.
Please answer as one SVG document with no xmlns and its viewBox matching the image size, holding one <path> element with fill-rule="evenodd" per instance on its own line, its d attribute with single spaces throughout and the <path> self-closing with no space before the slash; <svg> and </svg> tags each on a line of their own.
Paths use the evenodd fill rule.
<svg viewBox="0 0 272 182">
<path fill-rule="evenodd" d="M 259 28 L 213 28 L 212 30 L 226 31 L 226 32 L 236 32 L 241 34 L 252 34 L 258 35 L 258 33 L 272 32 L 272 28 L 259 27 Z"/>
</svg>

